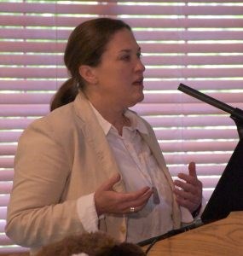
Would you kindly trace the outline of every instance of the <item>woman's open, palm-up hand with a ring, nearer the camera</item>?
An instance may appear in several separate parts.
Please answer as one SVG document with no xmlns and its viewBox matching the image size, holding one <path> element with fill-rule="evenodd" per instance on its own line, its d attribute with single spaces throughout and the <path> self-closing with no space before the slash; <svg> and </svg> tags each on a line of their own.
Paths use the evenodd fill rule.
<svg viewBox="0 0 243 256">
<path fill-rule="evenodd" d="M 153 194 L 152 189 L 145 187 L 135 192 L 119 193 L 113 190 L 113 185 L 118 183 L 119 174 L 114 175 L 95 191 L 95 207 L 98 216 L 103 213 L 124 214 L 139 212 L 147 204 Z"/>
</svg>

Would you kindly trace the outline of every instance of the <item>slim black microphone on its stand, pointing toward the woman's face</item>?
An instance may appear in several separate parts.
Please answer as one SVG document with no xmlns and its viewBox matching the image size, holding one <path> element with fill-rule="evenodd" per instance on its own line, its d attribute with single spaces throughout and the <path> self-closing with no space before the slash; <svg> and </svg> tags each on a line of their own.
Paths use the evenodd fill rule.
<svg viewBox="0 0 243 256">
<path fill-rule="evenodd" d="M 198 90 L 194 90 L 185 84 L 179 84 L 178 90 L 188 94 L 189 96 L 193 96 L 194 98 L 199 99 L 202 102 L 206 102 L 216 108 L 219 108 L 227 113 L 230 113 L 230 118 L 234 120 L 234 123 L 237 127 L 237 131 L 240 139 L 243 139 L 243 110 L 240 108 L 233 108 L 224 102 L 220 102 L 217 99 L 214 99 L 211 96 L 207 96 L 201 93 Z"/>
</svg>

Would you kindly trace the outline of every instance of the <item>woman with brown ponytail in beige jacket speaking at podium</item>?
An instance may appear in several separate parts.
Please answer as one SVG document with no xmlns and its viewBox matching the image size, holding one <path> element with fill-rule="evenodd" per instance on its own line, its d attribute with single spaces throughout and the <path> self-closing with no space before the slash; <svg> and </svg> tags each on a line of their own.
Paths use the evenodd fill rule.
<svg viewBox="0 0 243 256">
<path fill-rule="evenodd" d="M 193 220 L 202 198 L 195 166 L 174 184 L 151 126 L 129 110 L 143 100 L 140 57 L 121 20 L 88 20 L 72 32 L 71 78 L 52 112 L 20 137 L 6 226 L 13 241 L 35 252 L 103 230 L 137 242 L 178 228 L 185 214 Z"/>
</svg>

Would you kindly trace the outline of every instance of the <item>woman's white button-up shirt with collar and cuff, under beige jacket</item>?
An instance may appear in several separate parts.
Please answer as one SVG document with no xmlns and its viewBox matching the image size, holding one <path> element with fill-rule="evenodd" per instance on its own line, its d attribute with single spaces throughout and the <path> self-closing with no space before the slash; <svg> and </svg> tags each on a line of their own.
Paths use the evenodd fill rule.
<svg viewBox="0 0 243 256">
<path fill-rule="evenodd" d="M 171 188 L 164 173 L 159 170 L 150 148 L 139 134 L 139 131 L 148 133 L 146 126 L 135 113 L 128 110 L 125 116 L 130 119 L 131 126 L 124 127 L 123 135 L 120 136 L 116 128 L 103 119 L 93 106 L 92 108 L 113 150 L 121 177 L 124 179 L 125 189 L 135 191 L 145 186 L 154 186 L 159 192 L 159 205 L 153 203 L 152 195 L 142 211 L 127 215 L 126 241 L 138 242 L 171 230 Z M 89 232 L 97 230 L 98 218 L 95 212 L 94 194 L 80 197 L 77 207 L 84 229 Z"/>
</svg>

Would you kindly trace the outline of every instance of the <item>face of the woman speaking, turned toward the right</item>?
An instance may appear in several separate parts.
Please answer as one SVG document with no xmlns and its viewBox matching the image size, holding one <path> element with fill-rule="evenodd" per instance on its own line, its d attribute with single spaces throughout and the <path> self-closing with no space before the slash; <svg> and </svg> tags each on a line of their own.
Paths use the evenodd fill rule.
<svg viewBox="0 0 243 256">
<path fill-rule="evenodd" d="M 141 49 L 128 29 L 116 32 L 107 44 L 98 67 L 92 67 L 97 83 L 93 86 L 101 103 L 110 108 L 129 108 L 141 102 L 143 72 Z"/>
</svg>

